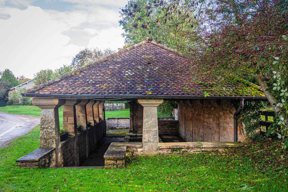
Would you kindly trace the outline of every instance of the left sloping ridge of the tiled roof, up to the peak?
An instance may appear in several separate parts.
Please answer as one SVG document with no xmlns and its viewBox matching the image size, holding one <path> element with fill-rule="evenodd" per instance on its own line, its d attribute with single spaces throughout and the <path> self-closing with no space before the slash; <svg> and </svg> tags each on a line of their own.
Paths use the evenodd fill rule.
<svg viewBox="0 0 288 192">
<path fill-rule="evenodd" d="M 67 77 L 70 77 L 70 76 L 72 76 L 72 75 L 75 75 L 76 73 L 80 73 L 81 71 L 84 71 L 84 70 L 86 70 L 86 69 L 89 69 L 90 67 L 92 67 L 92 66 L 95 65 L 95 64 L 102 63 L 102 62 L 104 62 L 104 61 L 106 61 L 106 60 L 109 60 L 109 59 L 111 59 L 111 58 L 113 58 L 113 57 L 115 57 L 115 56 L 118 56 L 118 55 L 120 55 L 120 54 L 122 54 L 122 53 L 126 53 L 126 52 L 128 52 L 128 51 L 130 51 L 130 50 L 132 50 L 132 49 L 134 49 L 134 48 L 136 48 L 136 47 L 139 47 L 140 45 L 143 45 L 144 43 L 147 43 L 147 42 L 148 42 L 147 40 L 144 40 L 144 41 L 141 41 L 140 43 L 137 43 L 137 44 L 135 44 L 135 45 L 131 45 L 130 47 L 127 47 L 127 48 L 125 48 L 125 49 L 123 49 L 123 50 L 121 50 L 121 51 L 118 51 L 118 52 L 116 52 L 116 53 L 113 53 L 113 54 L 111 54 L 111 55 L 109 55 L 109 56 L 107 56 L 107 57 L 105 57 L 105 58 L 103 58 L 103 59 L 101 59 L 101 60 L 98 60 L 98 61 L 94 62 L 94 63 L 90 63 L 90 64 L 88 64 L 88 65 L 86 65 L 86 66 L 83 66 L 83 67 L 81 67 L 81 68 L 78 68 L 78 69 L 76 69 L 76 70 L 74 70 L 74 71 L 71 71 L 71 72 L 66 73 L 66 74 L 64 74 L 64 75 L 61 75 L 61 76 L 59 76 L 59 77 L 56 77 L 55 79 L 52 79 L 52 80 L 50 80 L 50 81 L 47 81 L 47 82 L 45 82 L 45 83 L 43 83 L 43 84 L 41 84 L 41 85 L 37 85 L 37 86 L 35 86 L 35 87 L 27 90 L 27 93 L 32 93 L 33 91 L 37 91 L 37 90 L 39 90 L 39 89 L 42 89 L 42 88 L 44 88 L 44 87 L 46 87 L 46 86 L 48 86 L 48 85 L 51 85 L 51 84 L 53 84 L 53 83 L 55 83 L 55 82 L 57 82 L 57 81 L 60 81 L 61 79 L 65 79 L 65 78 L 67 78 Z M 155 42 L 154 42 L 154 43 L 155 43 Z M 152 44 L 154 44 L 154 43 L 152 43 Z M 157 44 L 157 43 L 156 43 L 156 44 Z M 168 47 L 167 47 L 167 48 L 168 48 Z M 168 48 L 168 49 L 169 49 L 169 48 Z"/>
</svg>

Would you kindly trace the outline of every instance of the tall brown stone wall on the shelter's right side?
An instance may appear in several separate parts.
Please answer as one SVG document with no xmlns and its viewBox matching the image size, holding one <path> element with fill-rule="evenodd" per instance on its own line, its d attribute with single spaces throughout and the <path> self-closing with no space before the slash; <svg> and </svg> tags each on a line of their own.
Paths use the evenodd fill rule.
<svg viewBox="0 0 288 192">
<path fill-rule="evenodd" d="M 233 113 L 230 100 L 178 102 L 179 136 L 187 142 L 233 141 Z"/>
</svg>

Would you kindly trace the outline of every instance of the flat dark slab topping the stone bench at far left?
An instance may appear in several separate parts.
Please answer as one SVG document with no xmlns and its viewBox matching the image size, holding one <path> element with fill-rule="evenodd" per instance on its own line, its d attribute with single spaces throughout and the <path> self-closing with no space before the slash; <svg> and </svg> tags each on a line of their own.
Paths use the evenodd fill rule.
<svg viewBox="0 0 288 192">
<path fill-rule="evenodd" d="M 50 153 L 53 151 L 55 148 L 50 147 L 50 148 L 38 148 L 31 153 L 28 153 L 27 155 L 24 155 L 23 157 L 20 157 L 19 159 L 16 160 L 17 163 L 19 162 L 33 162 L 33 161 L 38 161 L 41 159 L 41 157 L 45 156 L 47 153 Z"/>
</svg>

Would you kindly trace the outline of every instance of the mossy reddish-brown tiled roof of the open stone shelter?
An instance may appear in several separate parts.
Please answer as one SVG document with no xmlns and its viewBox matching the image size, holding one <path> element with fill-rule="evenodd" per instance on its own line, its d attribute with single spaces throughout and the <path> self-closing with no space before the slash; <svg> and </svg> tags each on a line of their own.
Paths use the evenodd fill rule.
<svg viewBox="0 0 288 192">
<path fill-rule="evenodd" d="M 65 95 L 151 95 L 151 96 L 264 96 L 254 84 L 244 80 L 226 81 L 216 77 L 184 87 L 191 72 L 179 67 L 180 53 L 155 42 L 142 41 L 98 62 L 89 64 L 28 93 Z M 190 73 L 190 74 L 189 74 Z"/>
</svg>

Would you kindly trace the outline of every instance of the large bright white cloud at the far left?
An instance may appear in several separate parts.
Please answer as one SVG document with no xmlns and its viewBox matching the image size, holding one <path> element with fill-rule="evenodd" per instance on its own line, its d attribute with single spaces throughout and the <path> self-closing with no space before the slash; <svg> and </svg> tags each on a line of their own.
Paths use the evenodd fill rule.
<svg viewBox="0 0 288 192">
<path fill-rule="evenodd" d="M 62 35 L 63 22 L 52 20 L 39 7 L 10 9 L 11 17 L 0 20 L 1 70 L 9 68 L 16 76 L 33 74 L 41 69 L 56 69 L 70 64 L 84 47 L 67 45 L 70 38 Z M 71 59 L 67 59 L 71 58 Z"/>
</svg>

